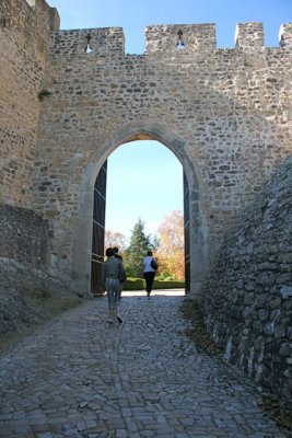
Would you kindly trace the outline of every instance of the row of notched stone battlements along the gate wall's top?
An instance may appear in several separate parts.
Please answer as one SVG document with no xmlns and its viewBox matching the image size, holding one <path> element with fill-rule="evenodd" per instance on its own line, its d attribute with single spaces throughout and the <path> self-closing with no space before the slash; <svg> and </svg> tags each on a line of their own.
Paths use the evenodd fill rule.
<svg viewBox="0 0 292 438">
<path fill-rule="evenodd" d="M 292 47 L 292 23 L 282 24 L 279 31 L 279 48 Z M 265 48 L 262 23 L 238 23 L 235 27 L 234 50 L 259 50 Z M 145 55 L 174 57 L 210 55 L 218 50 L 215 24 L 151 25 L 145 28 Z M 91 54 L 125 55 L 125 36 L 121 27 L 58 31 L 50 39 L 50 55 L 72 56 Z"/>
</svg>

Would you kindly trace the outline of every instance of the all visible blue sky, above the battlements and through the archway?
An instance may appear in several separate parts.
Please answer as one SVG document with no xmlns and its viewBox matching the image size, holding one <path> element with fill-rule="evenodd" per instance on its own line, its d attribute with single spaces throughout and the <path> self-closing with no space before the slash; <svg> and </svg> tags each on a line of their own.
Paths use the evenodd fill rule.
<svg viewBox="0 0 292 438">
<path fill-rule="evenodd" d="M 62 30 L 122 27 L 128 54 L 144 51 L 148 25 L 214 23 L 218 47 L 234 47 L 236 23 L 262 22 L 265 45 L 278 46 L 280 25 L 292 22 L 292 0 L 48 0 L 48 4 L 58 9 Z M 145 232 L 156 233 L 164 216 L 183 209 L 182 174 L 177 159 L 157 142 L 120 146 L 108 159 L 106 228 L 129 238 L 141 218 Z"/>
</svg>

